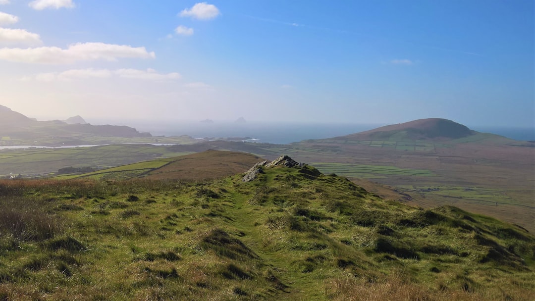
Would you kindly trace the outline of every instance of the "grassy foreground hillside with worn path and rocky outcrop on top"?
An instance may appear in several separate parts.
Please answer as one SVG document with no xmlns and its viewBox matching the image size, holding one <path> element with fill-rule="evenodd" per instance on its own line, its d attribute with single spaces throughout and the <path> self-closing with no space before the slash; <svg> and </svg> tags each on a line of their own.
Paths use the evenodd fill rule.
<svg viewBox="0 0 535 301">
<path fill-rule="evenodd" d="M 0 182 L 0 298 L 535 297 L 520 227 L 385 201 L 288 157 L 244 175 Z"/>
</svg>

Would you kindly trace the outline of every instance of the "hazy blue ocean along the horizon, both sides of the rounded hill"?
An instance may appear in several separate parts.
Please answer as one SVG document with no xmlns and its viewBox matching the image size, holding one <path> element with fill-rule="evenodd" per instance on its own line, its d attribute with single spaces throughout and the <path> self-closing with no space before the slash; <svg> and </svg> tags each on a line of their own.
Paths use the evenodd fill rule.
<svg viewBox="0 0 535 301">
<path fill-rule="evenodd" d="M 194 138 L 250 137 L 257 142 L 288 144 L 308 139 L 332 138 L 374 129 L 386 124 L 292 123 L 292 122 L 202 122 L 159 124 L 131 121 L 129 126 L 154 136 L 189 135 Z M 498 134 L 515 140 L 535 140 L 534 128 L 470 127 L 484 133 Z"/>
</svg>

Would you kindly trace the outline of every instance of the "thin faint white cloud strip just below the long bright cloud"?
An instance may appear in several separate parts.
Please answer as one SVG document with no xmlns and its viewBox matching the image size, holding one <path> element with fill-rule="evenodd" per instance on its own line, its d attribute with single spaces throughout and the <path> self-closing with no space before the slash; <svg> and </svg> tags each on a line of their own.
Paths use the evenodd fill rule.
<svg viewBox="0 0 535 301">
<path fill-rule="evenodd" d="M 40 73 L 32 77 L 25 76 L 21 78 L 22 81 L 28 81 L 35 79 L 36 81 L 70 81 L 78 79 L 106 79 L 117 76 L 119 78 L 126 79 L 139 79 L 139 80 L 149 80 L 149 81 L 163 81 L 163 80 L 176 80 L 180 79 L 180 74 L 173 73 L 157 73 L 154 69 L 148 70 L 137 70 L 137 69 L 119 69 L 116 71 L 108 69 L 72 69 L 63 72 L 50 72 L 50 73 Z"/>
</svg>

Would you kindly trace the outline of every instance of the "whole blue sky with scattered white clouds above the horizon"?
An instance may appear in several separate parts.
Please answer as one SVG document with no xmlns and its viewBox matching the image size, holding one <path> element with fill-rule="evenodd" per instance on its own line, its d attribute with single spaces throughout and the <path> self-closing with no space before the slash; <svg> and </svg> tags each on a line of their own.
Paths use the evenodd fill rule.
<svg viewBox="0 0 535 301">
<path fill-rule="evenodd" d="M 0 0 L 0 105 L 534 127 L 534 27 L 532 0 Z"/>
</svg>

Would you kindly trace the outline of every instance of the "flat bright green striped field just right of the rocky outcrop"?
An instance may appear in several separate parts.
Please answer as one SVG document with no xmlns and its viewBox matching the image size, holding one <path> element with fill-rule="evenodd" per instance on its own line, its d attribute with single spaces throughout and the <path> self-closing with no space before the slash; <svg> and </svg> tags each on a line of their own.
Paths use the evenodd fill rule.
<svg viewBox="0 0 535 301">
<path fill-rule="evenodd" d="M 323 173 L 335 173 L 347 177 L 364 177 L 376 179 L 384 175 L 437 176 L 427 169 L 399 168 L 395 166 L 364 165 L 348 163 L 312 162 L 310 165 Z"/>
</svg>

